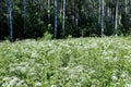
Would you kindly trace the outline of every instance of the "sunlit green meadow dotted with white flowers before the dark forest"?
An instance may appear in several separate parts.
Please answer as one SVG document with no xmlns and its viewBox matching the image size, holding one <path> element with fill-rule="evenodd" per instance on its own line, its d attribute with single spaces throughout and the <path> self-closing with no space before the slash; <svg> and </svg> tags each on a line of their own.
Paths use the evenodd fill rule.
<svg viewBox="0 0 131 87">
<path fill-rule="evenodd" d="M 131 37 L 0 42 L 0 87 L 131 87 Z"/>
</svg>

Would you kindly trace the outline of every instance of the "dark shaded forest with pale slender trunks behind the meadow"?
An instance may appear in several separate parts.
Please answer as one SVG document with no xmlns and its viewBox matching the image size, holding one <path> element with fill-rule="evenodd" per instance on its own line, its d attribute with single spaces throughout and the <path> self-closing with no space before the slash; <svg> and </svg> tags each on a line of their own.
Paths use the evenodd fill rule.
<svg viewBox="0 0 131 87">
<path fill-rule="evenodd" d="M 0 0 L 0 39 L 127 35 L 131 0 Z"/>
</svg>

